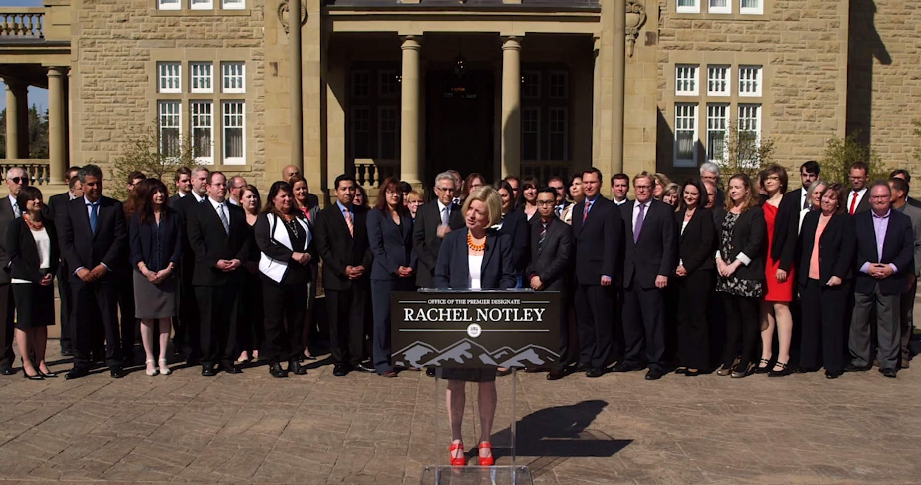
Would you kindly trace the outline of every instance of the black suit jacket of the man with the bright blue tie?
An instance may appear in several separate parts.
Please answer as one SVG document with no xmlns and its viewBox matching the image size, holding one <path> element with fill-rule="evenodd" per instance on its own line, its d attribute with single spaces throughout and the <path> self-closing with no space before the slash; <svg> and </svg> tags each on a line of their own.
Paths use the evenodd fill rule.
<svg viewBox="0 0 921 485">
<path fill-rule="evenodd" d="M 99 196 L 95 233 L 89 228 L 89 210 L 85 197 L 64 204 L 59 222 L 61 254 L 67 260 L 70 271 L 80 267 L 92 270 L 100 262 L 110 270 L 101 279 L 111 278 L 112 272 L 123 271 L 128 247 L 128 225 L 124 221 L 122 202 Z M 70 281 L 79 283 L 83 280 L 71 272 Z"/>
</svg>

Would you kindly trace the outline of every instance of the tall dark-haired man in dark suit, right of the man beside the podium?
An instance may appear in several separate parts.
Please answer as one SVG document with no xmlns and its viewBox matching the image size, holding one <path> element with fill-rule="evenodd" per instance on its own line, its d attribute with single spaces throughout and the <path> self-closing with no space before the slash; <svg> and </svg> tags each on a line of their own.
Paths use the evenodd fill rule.
<svg viewBox="0 0 921 485">
<path fill-rule="evenodd" d="M 581 347 L 577 369 L 585 369 L 589 377 L 604 374 L 604 368 L 612 363 L 614 339 L 621 347 L 622 331 L 621 316 L 614 314 L 613 290 L 621 267 L 617 255 L 624 244 L 624 227 L 617 206 L 600 195 L 601 180 L 598 168 L 591 167 L 582 173 L 585 202 L 573 210 L 572 225 L 576 240 L 576 319 Z"/>
</svg>

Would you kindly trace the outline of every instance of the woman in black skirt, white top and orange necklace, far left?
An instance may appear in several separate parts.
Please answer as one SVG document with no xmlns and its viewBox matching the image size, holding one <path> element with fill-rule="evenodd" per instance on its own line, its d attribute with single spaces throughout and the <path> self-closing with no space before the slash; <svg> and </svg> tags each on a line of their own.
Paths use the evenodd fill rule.
<svg viewBox="0 0 921 485">
<path fill-rule="evenodd" d="M 6 228 L 13 298 L 16 300 L 16 341 L 22 355 L 23 375 L 41 380 L 56 377 L 45 364 L 48 327 L 54 325 L 54 287 L 60 250 L 51 219 L 41 216 L 38 187 L 23 187 L 17 197 L 22 217 Z"/>
</svg>

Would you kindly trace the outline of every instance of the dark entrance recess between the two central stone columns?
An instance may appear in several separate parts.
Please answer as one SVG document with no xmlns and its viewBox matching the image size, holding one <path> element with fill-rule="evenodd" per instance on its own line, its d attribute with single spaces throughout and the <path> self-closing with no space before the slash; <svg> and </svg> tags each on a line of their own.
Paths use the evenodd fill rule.
<svg viewBox="0 0 921 485">
<path fill-rule="evenodd" d="M 492 71 L 428 71 L 426 75 L 426 186 L 453 168 L 493 179 Z"/>
</svg>

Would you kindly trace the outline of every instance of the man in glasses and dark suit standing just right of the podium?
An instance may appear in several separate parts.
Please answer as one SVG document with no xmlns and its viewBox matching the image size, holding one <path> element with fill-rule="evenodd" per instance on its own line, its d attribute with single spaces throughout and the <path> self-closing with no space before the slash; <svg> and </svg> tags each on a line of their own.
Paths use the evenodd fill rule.
<svg viewBox="0 0 921 485">
<path fill-rule="evenodd" d="M 525 274 L 529 275 L 530 287 L 538 292 L 560 292 L 560 362 L 547 378 L 563 377 L 572 362 L 569 348 L 569 308 L 565 305 L 566 286 L 569 282 L 572 264 L 572 227 L 559 220 L 554 214 L 556 190 L 545 187 L 537 191 L 537 212 L 539 221 L 530 225 L 530 264 Z"/>
</svg>

